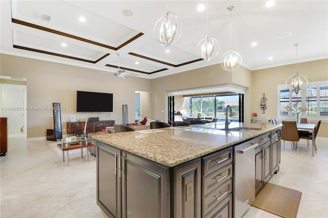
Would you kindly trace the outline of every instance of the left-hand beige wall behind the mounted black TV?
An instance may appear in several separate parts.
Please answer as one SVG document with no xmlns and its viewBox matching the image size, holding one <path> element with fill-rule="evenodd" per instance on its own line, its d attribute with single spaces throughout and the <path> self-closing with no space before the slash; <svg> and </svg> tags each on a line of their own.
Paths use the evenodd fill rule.
<svg viewBox="0 0 328 218">
<path fill-rule="evenodd" d="M 27 78 L 28 107 L 48 107 L 53 102 L 65 107 L 66 110 L 61 111 L 63 130 L 70 115 L 75 115 L 76 120 L 86 119 L 86 113 L 76 112 L 77 90 L 113 93 L 114 106 L 110 119 L 120 124 L 122 104 L 128 104 L 129 122 L 134 121 L 135 91 L 149 93 L 151 88 L 150 79 L 123 79 L 97 70 L 5 54 L 1 54 L 1 75 Z M 89 113 L 89 117 L 106 120 L 106 113 Z M 28 138 L 46 136 L 47 128 L 53 129 L 52 111 L 27 112 Z"/>
</svg>

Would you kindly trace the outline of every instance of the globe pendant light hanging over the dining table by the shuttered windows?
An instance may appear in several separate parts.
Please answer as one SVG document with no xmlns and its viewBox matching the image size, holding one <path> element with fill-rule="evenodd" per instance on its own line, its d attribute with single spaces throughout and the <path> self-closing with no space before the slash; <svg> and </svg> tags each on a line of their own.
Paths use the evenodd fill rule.
<svg viewBox="0 0 328 218">
<path fill-rule="evenodd" d="M 309 79 L 303 74 L 297 72 L 297 46 L 299 43 L 294 44 L 296 48 L 296 73 L 292 74 L 285 82 L 285 86 L 287 89 L 293 89 L 295 94 L 297 95 L 299 91 L 305 91 L 309 86 Z M 303 86 L 303 87 L 302 87 Z"/>
</svg>

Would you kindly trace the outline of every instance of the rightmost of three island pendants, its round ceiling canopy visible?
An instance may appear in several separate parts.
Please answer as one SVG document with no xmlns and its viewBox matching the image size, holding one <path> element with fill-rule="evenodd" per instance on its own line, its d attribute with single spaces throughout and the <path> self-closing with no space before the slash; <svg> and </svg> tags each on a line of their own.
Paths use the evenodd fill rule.
<svg viewBox="0 0 328 218">
<path fill-rule="evenodd" d="M 230 52 L 224 53 L 221 57 L 221 66 L 226 71 L 234 71 L 240 67 L 241 56 L 238 52 L 232 51 L 232 9 L 234 6 L 227 8 L 230 11 Z"/>
</svg>

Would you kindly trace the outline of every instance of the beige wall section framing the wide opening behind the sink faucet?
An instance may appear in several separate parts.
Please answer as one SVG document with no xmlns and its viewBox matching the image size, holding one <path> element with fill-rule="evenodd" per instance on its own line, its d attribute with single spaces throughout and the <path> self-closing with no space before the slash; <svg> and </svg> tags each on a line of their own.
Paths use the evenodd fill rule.
<svg viewBox="0 0 328 218">
<path fill-rule="evenodd" d="M 197 88 L 226 83 L 235 83 L 250 87 L 245 95 L 245 113 L 251 113 L 251 71 L 240 67 L 234 72 L 224 71 L 220 64 L 196 70 L 186 71 L 170 76 L 152 79 L 152 108 L 156 119 L 167 120 L 161 111 L 167 112 L 167 91 Z M 167 114 L 167 113 L 166 113 Z M 245 120 L 245 122 L 249 122 Z"/>
</svg>

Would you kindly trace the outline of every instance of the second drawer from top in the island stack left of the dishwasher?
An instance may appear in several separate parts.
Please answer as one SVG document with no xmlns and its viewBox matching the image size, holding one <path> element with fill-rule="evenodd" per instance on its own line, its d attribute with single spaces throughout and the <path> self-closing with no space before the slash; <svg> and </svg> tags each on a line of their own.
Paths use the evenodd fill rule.
<svg viewBox="0 0 328 218">
<path fill-rule="evenodd" d="M 232 163 L 202 179 L 202 197 L 232 178 Z"/>
</svg>

